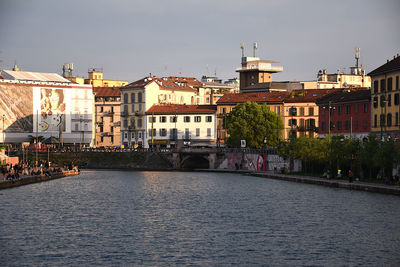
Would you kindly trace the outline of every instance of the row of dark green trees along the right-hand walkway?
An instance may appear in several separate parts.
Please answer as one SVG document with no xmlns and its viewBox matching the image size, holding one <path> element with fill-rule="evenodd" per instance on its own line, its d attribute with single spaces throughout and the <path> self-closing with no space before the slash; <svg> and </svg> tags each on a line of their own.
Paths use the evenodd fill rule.
<svg viewBox="0 0 400 267">
<path fill-rule="evenodd" d="M 330 169 L 336 173 L 341 169 L 346 175 L 351 169 L 358 177 L 375 179 L 378 173 L 391 177 L 400 162 L 400 145 L 393 140 L 380 142 L 375 135 L 363 141 L 342 135 L 322 140 L 300 137 L 282 143 L 279 154 L 301 160 L 305 172 L 321 174 L 321 169 Z"/>
</svg>

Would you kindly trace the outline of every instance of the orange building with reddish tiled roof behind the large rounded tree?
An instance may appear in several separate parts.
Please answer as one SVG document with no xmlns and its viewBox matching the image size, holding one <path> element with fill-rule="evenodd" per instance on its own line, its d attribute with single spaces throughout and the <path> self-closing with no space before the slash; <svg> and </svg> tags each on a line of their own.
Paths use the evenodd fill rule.
<svg viewBox="0 0 400 267">
<path fill-rule="evenodd" d="M 225 94 L 217 101 L 217 144 L 224 145 L 228 134 L 224 125 L 226 116 L 232 109 L 241 103 L 256 102 L 267 105 L 269 109 L 281 116 L 283 120 L 284 99 L 289 96 L 289 92 L 258 92 L 258 93 L 239 93 Z"/>
</svg>

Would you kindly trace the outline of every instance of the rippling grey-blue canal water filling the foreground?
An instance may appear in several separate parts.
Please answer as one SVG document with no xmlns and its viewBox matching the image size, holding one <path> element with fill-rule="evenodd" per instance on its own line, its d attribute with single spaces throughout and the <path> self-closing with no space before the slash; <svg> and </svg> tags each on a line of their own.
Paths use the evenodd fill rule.
<svg viewBox="0 0 400 267">
<path fill-rule="evenodd" d="M 400 266 L 400 198 L 230 173 L 0 191 L 2 266 Z"/>
</svg>

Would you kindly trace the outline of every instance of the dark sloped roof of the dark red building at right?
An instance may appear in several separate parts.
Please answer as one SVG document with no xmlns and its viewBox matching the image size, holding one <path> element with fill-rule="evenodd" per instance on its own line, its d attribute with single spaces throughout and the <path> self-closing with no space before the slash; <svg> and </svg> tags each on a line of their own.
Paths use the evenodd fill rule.
<svg viewBox="0 0 400 267">
<path fill-rule="evenodd" d="M 317 105 L 333 104 L 337 103 L 349 103 L 349 102 L 366 102 L 371 101 L 371 90 L 368 88 L 361 89 L 341 89 L 332 94 L 323 96 L 317 100 Z"/>
</svg>

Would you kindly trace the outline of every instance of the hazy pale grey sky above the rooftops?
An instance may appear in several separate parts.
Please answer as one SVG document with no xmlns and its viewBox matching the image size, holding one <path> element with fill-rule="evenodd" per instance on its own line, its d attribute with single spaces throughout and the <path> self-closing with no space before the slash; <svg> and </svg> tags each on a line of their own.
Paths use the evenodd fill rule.
<svg viewBox="0 0 400 267">
<path fill-rule="evenodd" d="M 275 81 L 367 72 L 400 53 L 400 0 L 0 0 L 0 68 L 104 79 L 238 77 L 245 55 L 278 61 Z"/>
</svg>

